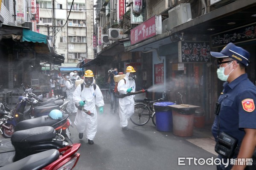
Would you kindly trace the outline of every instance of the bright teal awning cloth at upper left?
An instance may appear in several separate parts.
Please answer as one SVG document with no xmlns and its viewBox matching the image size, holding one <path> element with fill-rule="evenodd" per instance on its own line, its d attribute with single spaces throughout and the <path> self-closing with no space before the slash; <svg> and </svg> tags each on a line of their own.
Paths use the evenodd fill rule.
<svg viewBox="0 0 256 170">
<path fill-rule="evenodd" d="M 22 42 L 28 41 L 28 42 L 39 42 L 39 43 L 45 43 L 47 44 L 47 35 L 39 34 L 34 31 L 30 31 L 28 29 L 23 28 L 22 33 Z"/>
</svg>

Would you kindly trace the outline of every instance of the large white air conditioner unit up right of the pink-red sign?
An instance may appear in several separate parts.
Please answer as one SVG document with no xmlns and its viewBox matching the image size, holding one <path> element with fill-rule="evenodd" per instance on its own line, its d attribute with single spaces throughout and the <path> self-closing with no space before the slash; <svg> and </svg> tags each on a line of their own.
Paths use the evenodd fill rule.
<svg viewBox="0 0 256 170">
<path fill-rule="evenodd" d="M 181 3 L 180 5 L 170 9 L 168 14 L 170 29 L 186 23 L 192 19 L 190 3 Z"/>
</svg>

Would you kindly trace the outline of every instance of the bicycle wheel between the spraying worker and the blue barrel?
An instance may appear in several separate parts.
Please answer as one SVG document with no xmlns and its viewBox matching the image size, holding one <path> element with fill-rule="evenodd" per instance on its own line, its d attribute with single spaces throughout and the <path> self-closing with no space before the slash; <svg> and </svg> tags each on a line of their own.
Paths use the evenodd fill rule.
<svg viewBox="0 0 256 170">
<path fill-rule="evenodd" d="M 134 114 L 131 116 L 131 122 L 135 125 L 142 126 L 148 123 L 151 116 L 151 111 L 147 105 L 137 103 L 134 105 Z"/>
</svg>

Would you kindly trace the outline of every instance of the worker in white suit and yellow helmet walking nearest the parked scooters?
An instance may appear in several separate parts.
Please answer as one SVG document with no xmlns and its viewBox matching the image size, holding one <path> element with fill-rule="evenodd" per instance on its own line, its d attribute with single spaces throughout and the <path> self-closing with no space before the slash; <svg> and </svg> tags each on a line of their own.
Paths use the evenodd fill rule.
<svg viewBox="0 0 256 170">
<path fill-rule="evenodd" d="M 94 116 L 90 116 L 79 109 L 74 122 L 79 132 L 79 139 L 83 138 L 85 131 L 88 144 L 93 144 L 93 139 L 97 132 L 96 105 L 99 107 L 99 114 L 103 113 L 104 106 L 102 92 L 99 86 L 94 84 L 93 71 L 87 70 L 84 72 L 84 82 L 77 86 L 73 94 L 73 100 L 76 105 L 80 105 L 87 111 L 94 113 Z"/>
</svg>

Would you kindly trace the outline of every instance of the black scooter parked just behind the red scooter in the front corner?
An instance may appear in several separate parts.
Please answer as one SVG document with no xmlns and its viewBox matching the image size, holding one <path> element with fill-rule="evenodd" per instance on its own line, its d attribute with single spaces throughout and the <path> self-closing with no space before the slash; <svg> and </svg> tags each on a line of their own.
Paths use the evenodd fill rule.
<svg viewBox="0 0 256 170">
<path fill-rule="evenodd" d="M 1 124 L 0 124 L 1 126 Z M 10 164 L 26 156 L 50 149 L 68 146 L 64 137 L 50 126 L 16 131 L 11 139 L 2 139 L 0 144 L 0 166 Z"/>
</svg>

